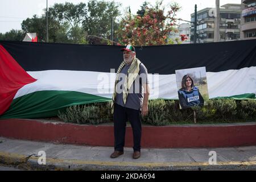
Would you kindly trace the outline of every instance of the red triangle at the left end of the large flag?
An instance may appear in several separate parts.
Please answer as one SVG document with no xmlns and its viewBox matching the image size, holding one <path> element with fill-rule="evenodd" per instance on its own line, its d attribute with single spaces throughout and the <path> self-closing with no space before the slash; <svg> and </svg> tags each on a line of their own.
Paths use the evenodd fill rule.
<svg viewBox="0 0 256 182">
<path fill-rule="evenodd" d="M 9 109 L 16 92 L 34 81 L 0 44 L 0 115 Z"/>
</svg>

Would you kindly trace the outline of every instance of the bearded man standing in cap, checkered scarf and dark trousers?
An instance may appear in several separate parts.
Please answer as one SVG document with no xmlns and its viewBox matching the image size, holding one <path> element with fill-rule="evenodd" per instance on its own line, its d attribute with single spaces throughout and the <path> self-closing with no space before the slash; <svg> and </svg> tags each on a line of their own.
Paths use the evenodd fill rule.
<svg viewBox="0 0 256 182">
<path fill-rule="evenodd" d="M 141 156 L 141 114 L 148 113 L 148 79 L 147 69 L 136 57 L 131 45 L 121 49 L 123 62 L 117 70 L 112 97 L 114 113 L 114 152 L 110 158 L 123 154 L 125 146 L 126 122 L 129 120 L 133 129 L 133 159 Z"/>
</svg>

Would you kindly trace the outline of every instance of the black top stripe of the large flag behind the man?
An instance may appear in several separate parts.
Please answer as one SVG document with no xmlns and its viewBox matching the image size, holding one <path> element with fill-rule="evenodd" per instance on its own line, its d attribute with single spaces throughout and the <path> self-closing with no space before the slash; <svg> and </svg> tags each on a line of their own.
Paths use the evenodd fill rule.
<svg viewBox="0 0 256 182">
<path fill-rule="evenodd" d="M 0 41 L 26 71 L 49 69 L 110 72 L 123 60 L 124 46 Z M 175 74 L 177 69 L 206 67 L 220 72 L 256 66 L 256 39 L 232 42 L 135 47 L 148 73 Z"/>
</svg>

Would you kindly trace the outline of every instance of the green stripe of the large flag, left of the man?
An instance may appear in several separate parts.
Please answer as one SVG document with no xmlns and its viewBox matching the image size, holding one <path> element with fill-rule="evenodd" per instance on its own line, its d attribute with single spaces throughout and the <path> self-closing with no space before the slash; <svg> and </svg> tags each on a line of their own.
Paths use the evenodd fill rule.
<svg viewBox="0 0 256 182">
<path fill-rule="evenodd" d="M 65 107 L 93 102 L 106 102 L 110 98 L 74 91 L 39 91 L 15 98 L 0 118 L 47 118 L 55 116 Z"/>
</svg>

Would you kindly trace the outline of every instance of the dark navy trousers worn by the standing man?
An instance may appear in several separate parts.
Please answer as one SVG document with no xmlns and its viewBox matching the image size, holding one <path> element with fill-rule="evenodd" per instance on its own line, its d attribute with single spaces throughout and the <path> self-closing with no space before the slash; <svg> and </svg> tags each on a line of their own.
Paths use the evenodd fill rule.
<svg viewBox="0 0 256 182">
<path fill-rule="evenodd" d="M 125 146 L 126 122 L 133 128 L 133 150 L 141 151 L 141 111 L 114 105 L 114 137 L 115 150 L 123 151 Z"/>
</svg>

